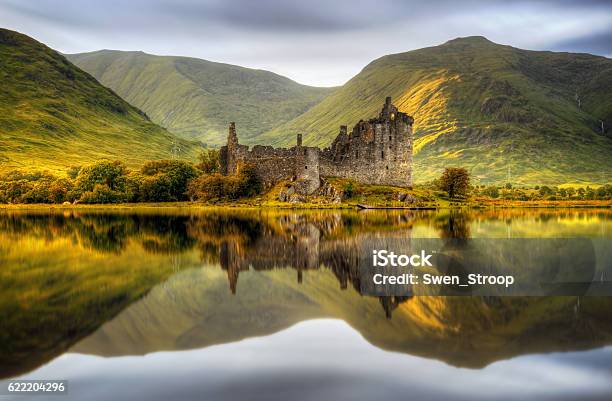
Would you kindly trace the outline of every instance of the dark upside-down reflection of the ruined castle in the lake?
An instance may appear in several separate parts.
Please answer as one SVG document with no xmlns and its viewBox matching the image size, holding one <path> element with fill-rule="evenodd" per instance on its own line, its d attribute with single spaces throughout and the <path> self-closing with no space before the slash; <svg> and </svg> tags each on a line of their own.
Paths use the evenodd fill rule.
<svg viewBox="0 0 612 401">
<path fill-rule="evenodd" d="M 360 264 L 364 263 L 363 256 L 368 255 L 368 250 L 387 236 L 409 241 L 413 220 L 409 213 L 389 214 L 377 223 L 370 221 L 371 225 L 358 227 L 358 222 L 347 220 L 341 214 L 327 214 L 324 220 L 311 217 L 281 216 L 269 221 L 270 225 L 264 224 L 261 235 L 249 237 L 248 241 L 241 241 L 235 236 L 222 239 L 219 264 L 227 271 L 232 294 L 237 291 L 240 272 L 279 268 L 295 269 L 298 283 L 302 282 L 304 271 L 329 269 L 341 289 L 347 289 L 350 285 L 361 293 Z M 395 229 L 381 234 L 383 226 Z M 349 227 L 357 232 L 347 235 Z M 407 299 L 380 297 L 380 302 L 385 314 L 391 317 L 393 309 Z"/>
</svg>

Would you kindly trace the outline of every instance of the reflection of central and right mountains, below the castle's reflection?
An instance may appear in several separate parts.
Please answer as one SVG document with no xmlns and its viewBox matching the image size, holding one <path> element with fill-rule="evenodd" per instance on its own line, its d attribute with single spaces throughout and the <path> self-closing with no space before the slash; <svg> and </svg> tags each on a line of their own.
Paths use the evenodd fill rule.
<svg viewBox="0 0 612 401">
<path fill-rule="evenodd" d="M 231 296 L 218 270 L 182 272 L 72 351 L 118 356 L 201 348 L 320 317 L 348 322 L 377 347 L 468 367 L 612 341 L 609 299 L 415 297 L 389 320 L 377 298 L 341 290 L 329 271 L 306 272 L 301 284 L 287 270 L 247 272 L 241 280 Z"/>
</svg>

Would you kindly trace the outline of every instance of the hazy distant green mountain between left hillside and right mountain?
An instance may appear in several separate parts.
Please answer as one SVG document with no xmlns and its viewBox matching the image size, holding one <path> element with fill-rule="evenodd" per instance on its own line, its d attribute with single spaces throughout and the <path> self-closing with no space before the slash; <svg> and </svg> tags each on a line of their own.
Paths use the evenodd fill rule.
<svg viewBox="0 0 612 401">
<path fill-rule="evenodd" d="M 268 71 L 187 57 L 101 50 L 67 56 L 157 124 L 221 145 L 235 121 L 244 142 L 304 113 L 332 88 L 300 85 Z"/>
</svg>

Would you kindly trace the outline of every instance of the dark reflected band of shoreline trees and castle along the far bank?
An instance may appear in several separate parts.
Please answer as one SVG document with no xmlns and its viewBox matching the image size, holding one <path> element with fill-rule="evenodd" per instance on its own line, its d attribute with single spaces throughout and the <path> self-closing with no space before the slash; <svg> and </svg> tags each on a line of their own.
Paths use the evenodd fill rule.
<svg viewBox="0 0 612 401">
<path fill-rule="evenodd" d="M 410 237 L 415 221 L 431 221 L 445 252 L 465 254 L 464 241 L 471 237 L 474 221 L 510 220 L 517 216 L 552 219 L 568 211 L 525 209 L 450 211 L 446 213 L 374 212 L 262 212 L 206 211 L 198 213 L 6 213 L 0 215 L 0 235 L 5 238 L 33 236 L 53 240 L 67 238 L 85 249 L 121 253 L 130 243 L 152 254 L 179 254 L 198 250 L 206 264 L 227 271 L 229 287 L 237 290 L 240 272 L 293 268 L 297 280 L 303 272 L 328 269 L 341 288 L 361 291 L 360 255 L 374 239 Z M 572 219 L 610 219 L 610 213 L 585 210 Z M 457 252 L 455 252 L 457 251 Z M 460 251 L 460 252 L 459 252 Z M 460 259 L 449 259 L 447 273 L 463 275 Z M 385 299 L 387 314 L 402 300 Z"/>
</svg>

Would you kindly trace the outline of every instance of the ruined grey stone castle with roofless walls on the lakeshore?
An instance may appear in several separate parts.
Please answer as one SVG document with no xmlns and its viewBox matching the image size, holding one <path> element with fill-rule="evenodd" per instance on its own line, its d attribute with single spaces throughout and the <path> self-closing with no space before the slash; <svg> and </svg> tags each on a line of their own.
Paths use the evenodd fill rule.
<svg viewBox="0 0 612 401">
<path fill-rule="evenodd" d="M 238 143 L 236 125 L 229 126 L 227 145 L 221 148 L 221 173 L 236 174 L 241 164 L 252 164 L 265 189 L 291 180 L 298 193 L 308 195 L 320 186 L 321 177 L 354 179 L 364 184 L 412 186 L 412 124 L 387 97 L 378 118 L 359 121 L 350 133 L 345 125 L 325 149 L 303 146 L 274 148 Z"/>
</svg>

